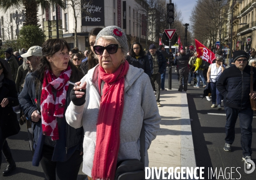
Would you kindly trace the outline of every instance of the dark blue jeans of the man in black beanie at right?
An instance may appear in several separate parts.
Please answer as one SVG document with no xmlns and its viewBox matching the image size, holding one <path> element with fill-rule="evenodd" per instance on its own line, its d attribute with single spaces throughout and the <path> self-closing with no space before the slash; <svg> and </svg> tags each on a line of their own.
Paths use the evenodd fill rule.
<svg viewBox="0 0 256 180">
<path fill-rule="evenodd" d="M 236 109 L 225 106 L 225 112 L 227 116 L 227 122 L 225 125 L 226 138 L 225 141 L 228 144 L 232 144 L 235 140 L 235 125 L 236 119 L 239 116 L 240 128 L 241 128 L 241 147 L 243 149 L 243 156 L 251 156 L 252 150 L 252 122 L 253 122 L 253 110 L 248 107 L 246 109 Z"/>
</svg>

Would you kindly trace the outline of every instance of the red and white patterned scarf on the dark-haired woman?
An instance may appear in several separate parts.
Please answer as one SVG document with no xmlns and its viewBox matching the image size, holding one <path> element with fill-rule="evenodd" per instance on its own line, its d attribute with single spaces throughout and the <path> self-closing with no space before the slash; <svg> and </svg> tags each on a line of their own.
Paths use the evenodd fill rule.
<svg viewBox="0 0 256 180">
<path fill-rule="evenodd" d="M 52 136 L 52 140 L 59 139 L 57 118 L 63 118 L 66 105 L 68 83 L 72 70 L 70 66 L 62 71 L 60 76 L 56 76 L 50 71 L 44 71 L 44 79 L 41 94 L 41 114 L 43 134 Z M 57 90 L 56 99 L 52 93 L 52 88 Z"/>
</svg>

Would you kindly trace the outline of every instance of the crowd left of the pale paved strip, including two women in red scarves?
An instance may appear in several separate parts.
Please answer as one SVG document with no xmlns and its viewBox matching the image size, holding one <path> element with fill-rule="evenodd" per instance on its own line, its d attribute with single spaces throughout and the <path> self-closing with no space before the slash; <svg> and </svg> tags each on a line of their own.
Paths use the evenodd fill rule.
<svg viewBox="0 0 256 180">
<path fill-rule="evenodd" d="M 32 165 L 40 164 L 47 180 L 76 180 L 82 162 L 89 180 L 113 179 L 117 162 L 140 160 L 142 127 L 147 166 L 147 151 L 160 126 L 157 106 L 169 54 L 164 57 L 154 44 L 148 52 L 140 43 L 129 49 L 117 26 L 92 29 L 89 41 L 90 50 L 84 52 L 70 49 L 62 39 L 20 53 L 8 48 L 0 61 L 0 115 L 18 123 L 12 107 L 20 105 Z M 4 123 L 0 121 L 0 151 L 8 163 L 7 176 L 16 164 L 6 137 L 20 126 Z"/>
</svg>

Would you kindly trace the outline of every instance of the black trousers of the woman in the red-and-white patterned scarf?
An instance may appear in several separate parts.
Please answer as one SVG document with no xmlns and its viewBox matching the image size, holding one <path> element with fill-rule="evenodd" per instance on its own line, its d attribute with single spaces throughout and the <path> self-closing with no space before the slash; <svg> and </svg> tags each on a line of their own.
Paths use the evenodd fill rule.
<svg viewBox="0 0 256 180">
<path fill-rule="evenodd" d="M 76 180 L 83 161 L 83 155 L 80 155 L 80 151 L 75 151 L 65 162 L 52 161 L 53 151 L 54 147 L 44 145 L 43 158 L 40 164 L 47 180 Z"/>
</svg>

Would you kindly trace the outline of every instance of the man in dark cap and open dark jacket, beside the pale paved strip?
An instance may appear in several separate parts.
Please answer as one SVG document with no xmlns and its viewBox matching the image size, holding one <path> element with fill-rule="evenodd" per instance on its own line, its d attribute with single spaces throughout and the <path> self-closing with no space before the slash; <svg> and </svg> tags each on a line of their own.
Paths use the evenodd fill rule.
<svg viewBox="0 0 256 180">
<path fill-rule="evenodd" d="M 160 105 L 160 86 L 161 86 L 161 74 L 164 73 L 166 69 L 166 58 L 163 54 L 157 51 L 157 48 L 154 44 L 149 46 L 148 59 L 151 67 L 151 85 L 156 87 L 157 90 L 157 106 Z"/>
</svg>

